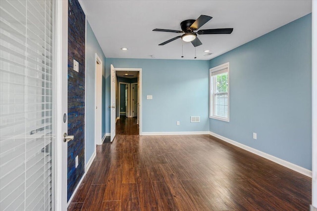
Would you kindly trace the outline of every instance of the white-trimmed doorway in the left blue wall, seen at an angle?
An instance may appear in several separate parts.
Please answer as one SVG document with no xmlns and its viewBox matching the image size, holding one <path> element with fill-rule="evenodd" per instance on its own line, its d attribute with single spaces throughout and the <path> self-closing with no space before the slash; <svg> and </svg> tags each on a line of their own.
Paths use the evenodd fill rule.
<svg viewBox="0 0 317 211">
<path fill-rule="evenodd" d="M 96 53 L 95 62 L 95 145 L 101 145 L 103 142 L 102 138 L 102 88 L 103 88 L 103 61 L 99 58 Z"/>
</svg>

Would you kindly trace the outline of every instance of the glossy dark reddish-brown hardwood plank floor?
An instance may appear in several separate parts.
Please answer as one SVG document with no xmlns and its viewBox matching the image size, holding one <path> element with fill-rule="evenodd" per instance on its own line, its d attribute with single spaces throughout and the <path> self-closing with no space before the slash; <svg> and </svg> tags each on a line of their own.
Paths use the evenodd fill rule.
<svg viewBox="0 0 317 211">
<path fill-rule="evenodd" d="M 309 211 L 311 178 L 210 135 L 139 136 L 121 118 L 68 211 Z"/>
</svg>

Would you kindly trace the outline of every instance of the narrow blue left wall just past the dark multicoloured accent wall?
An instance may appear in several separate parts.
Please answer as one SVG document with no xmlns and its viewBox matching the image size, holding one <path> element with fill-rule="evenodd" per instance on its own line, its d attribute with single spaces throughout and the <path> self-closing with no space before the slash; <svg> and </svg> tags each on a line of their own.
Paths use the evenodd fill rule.
<svg viewBox="0 0 317 211">
<path fill-rule="evenodd" d="M 96 84 L 96 53 L 103 62 L 103 86 L 105 86 L 105 72 L 106 72 L 106 57 L 102 51 L 93 30 L 87 21 L 87 41 L 86 41 L 86 161 L 89 161 L 95 152 L 95 84 Z M 103 96 L 105 95 L 103 88 Z M 103 104 L 105 105 L 105 104 Z M 104 106 L 103 106 L 104 107 Z M 103 109 L 103 117 L 105 117 L 105 109 Z M 105 118 L 102 124 L 102 139 L 105 135 Z"/>
</svg>

